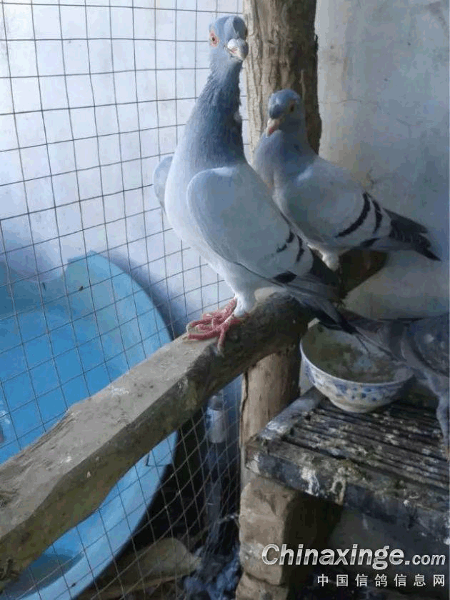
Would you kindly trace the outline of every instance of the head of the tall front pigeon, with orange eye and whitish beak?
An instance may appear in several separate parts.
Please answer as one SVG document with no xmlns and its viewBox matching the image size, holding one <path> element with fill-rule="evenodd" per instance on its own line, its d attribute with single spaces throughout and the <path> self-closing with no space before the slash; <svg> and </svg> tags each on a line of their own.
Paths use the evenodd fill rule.
<svg viewBox="0 0 450 600">
<path fill-rule="evenodd" d="M 211 67 L 228 71 L 233 66 L 241 67 L 249 54 L 246 43 L 247 28 L 240 16 L 221 16 L 209 26 Z"/>
</svg>

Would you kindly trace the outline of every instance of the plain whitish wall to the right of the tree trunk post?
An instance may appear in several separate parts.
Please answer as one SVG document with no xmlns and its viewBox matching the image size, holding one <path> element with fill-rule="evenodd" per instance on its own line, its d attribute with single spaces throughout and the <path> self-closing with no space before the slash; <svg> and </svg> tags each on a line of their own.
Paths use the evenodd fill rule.
<svg viewBox="0 0 450 600">
<path fill-rule="evenodd" d="M 401 252 L 349 296 L 367 316 L 431 314 L 449 298 L 449 6 L 319 0 L 320 154 L 387 208 L 434 228 L 445 261 Z"/>
</svg>

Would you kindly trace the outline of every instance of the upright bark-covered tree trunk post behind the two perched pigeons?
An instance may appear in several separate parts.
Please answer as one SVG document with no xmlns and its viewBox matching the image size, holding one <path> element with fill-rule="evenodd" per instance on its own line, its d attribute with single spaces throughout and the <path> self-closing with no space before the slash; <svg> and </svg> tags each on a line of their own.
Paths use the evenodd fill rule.
<svg viewBox="0 0 450 600">
<path fill-rule="evenodd" d="M 321 119 L 317 99 L 316 0 L 244 0 L 249 29 L 246 59 L 247 110 L 251 156 L 266 126 L 267 101 L 278 89 L 301 94 L 309 143 L 319 150 Z M 301 318 L 299 314 L 299 319 Z M 302 333 L 308 321 L 303 319 Z M 251 474 L 244 467 L 244 446 L 298 396 L 299 341 L 271 354 L 246 371 L 241 396 L 241 485 Z"/>
</svg>

